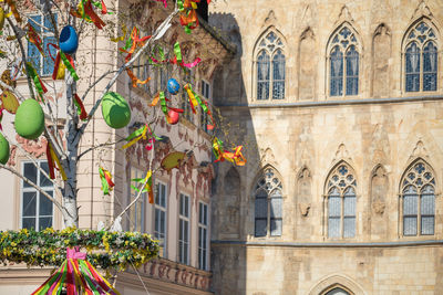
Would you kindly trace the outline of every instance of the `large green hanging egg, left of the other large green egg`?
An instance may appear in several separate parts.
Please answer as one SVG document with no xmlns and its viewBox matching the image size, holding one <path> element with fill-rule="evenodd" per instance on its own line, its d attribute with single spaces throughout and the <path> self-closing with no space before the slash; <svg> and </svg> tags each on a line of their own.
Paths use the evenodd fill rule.
<svg viewBox="0 0 443 295">
<path fill-rule="evenodd" d="M 37 139 L 44 129 L 44 114 L 40 104 L 32 98 L 24 101 L 16 113 L 16 131 L 27 139 Z"/>
</svg>

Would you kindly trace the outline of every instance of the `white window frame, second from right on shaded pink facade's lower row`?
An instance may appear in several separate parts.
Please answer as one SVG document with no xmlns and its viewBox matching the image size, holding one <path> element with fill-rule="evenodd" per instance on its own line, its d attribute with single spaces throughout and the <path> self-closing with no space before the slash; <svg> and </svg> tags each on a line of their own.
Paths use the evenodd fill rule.
<svg viewBox="0 0 443 295">
<path fill-rule="evenodd" d="M 182 208 L 182 198 L 184 198 L 184 200 L 187 200 L 187 202 L 183 202 L 184 206 L 187 204 L 187 215 L 182 214 L 182 209 L 186 213 L 185 207 Z M 183 224 L 187 225 L 187 236 L 186 236 L 187 241 L 185 239 L 181 239 L 182 222 L 183 222 Z M 184 229 L 184 226 L 183 226 L 183 229 Z M 184 233 L 183 233 L 183 236 L 184 236 Z M 178 198 L 178 239 L 177 239 L 178 240 L 178 262 L 182 264 L 187 264 L 187 265 L 189 264 L 189 261 L 190 261 L 189 260 L 189 253 L 190 253 L 189 238 L 190 238 L 190 197 L 186 193 L 181 192 L 179 198 Z M 181 246 L 182 244 L 183 244 L 183 247 Z M 187 250 L 185 250 L 185 246 L 184 246 L 185 244 L 187 245 Z"/>
</svg>

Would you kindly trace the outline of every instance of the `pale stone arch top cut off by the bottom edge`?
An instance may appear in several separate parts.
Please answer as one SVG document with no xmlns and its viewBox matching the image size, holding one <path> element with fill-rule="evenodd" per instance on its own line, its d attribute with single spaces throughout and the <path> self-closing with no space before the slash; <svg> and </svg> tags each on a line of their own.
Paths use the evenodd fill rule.
<svg viewBox="0 0 443 295">
<path fill-rule="evenodd" d="M 365 295 L 363 288 L 352 278 L 342 274 L 330 275 L 320 280 L 308 293 L 309 295 L 323 295 L 327 292 L 340 287 L 351 295 Z"/>
</svg>

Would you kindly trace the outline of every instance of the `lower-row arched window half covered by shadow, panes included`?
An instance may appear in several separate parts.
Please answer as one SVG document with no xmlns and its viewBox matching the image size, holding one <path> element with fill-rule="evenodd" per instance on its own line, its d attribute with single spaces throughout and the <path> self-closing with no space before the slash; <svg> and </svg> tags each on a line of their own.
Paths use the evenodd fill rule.
<svg viewBox="0 0 443 295">
<path fill-rule="evenodd" d="M 272 168 L 266 168 L 254 189 L 255 236 L 281 235 L 282 186 Z"/>
</svg>

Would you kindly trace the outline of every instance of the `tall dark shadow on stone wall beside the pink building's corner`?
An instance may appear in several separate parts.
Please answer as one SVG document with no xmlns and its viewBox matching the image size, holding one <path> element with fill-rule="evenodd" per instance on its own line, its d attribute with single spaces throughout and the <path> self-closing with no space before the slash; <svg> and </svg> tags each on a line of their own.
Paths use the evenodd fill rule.
<svg viewBox="0 0 443 295">
<path fill-rule="evenodd" d="M 235 245 L 254 234 L 254 203 L 249 194 L 248 171 L 258 158 L 257 143 L 247 106 L 241 75 L 241 35 L 230 13 L 210 13 L 209 24 L 236 46 L 236 54 L 214 75 L 214 105 L 220 110 L 222 128 L 217 136 L 225 148 L 244 145 L 248 162 L 235 167 L 225 161 L 215 165 L 217 178 L 212 200 L 212 271 L 215 294 L 246 293 L 246 249 Z M 251 210 L 253 209 L 253 210 Z M 250 215 L 253 212 L 253 215 Z M 250 225 L 251 224 L 251 225 Z"/>
</svg>

